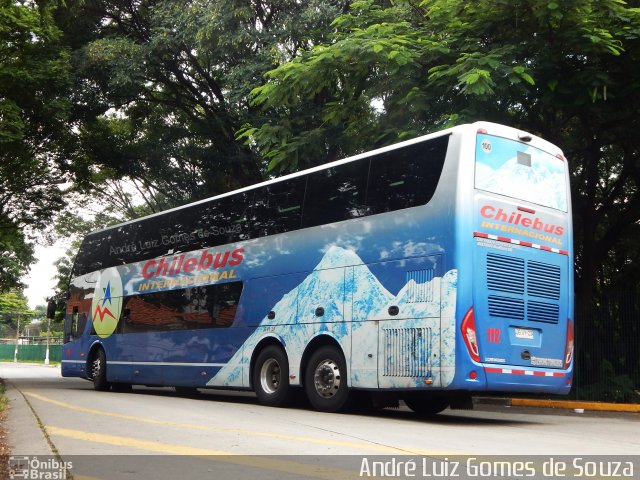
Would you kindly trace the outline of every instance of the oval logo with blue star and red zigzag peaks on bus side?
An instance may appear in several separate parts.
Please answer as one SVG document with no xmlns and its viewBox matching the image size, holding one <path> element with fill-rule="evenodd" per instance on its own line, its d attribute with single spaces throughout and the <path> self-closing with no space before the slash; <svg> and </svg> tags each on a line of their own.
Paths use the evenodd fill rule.
<svg viewBox="0 0 640 480">
<path fill-rule="evenodd" d="M 91 303 L 93 328 L 99 337 L 107 338 L 115 332 L 121 310 L 122 279 L 115 267 L 108 268 L 100 274 Z"/>
</svg>

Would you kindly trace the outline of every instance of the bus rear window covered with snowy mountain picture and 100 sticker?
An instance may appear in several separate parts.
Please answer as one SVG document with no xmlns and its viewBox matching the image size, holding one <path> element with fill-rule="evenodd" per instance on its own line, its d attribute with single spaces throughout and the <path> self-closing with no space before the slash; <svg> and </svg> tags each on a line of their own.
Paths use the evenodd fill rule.
<svg viewBox="0 0 640 480">
<path fill-rule="evenodd" d="M 556 210 L 567 211 L 564 161 L 539 148 L 479 134 L 475 187 Z"/>
</svg>

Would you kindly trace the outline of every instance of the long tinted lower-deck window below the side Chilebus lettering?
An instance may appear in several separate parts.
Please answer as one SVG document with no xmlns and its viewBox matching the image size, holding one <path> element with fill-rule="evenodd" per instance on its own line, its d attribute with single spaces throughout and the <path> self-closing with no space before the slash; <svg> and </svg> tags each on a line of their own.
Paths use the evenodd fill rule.
<svg viewBox="0 0 640 480">
<path fill-rule="evenodd" d="M 121 333 L 229 327 L 242 282 L 134 295 L 124 299 Z"/>
</svg>

